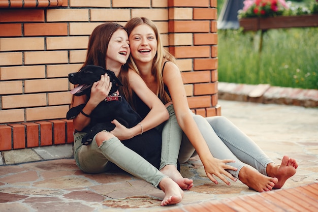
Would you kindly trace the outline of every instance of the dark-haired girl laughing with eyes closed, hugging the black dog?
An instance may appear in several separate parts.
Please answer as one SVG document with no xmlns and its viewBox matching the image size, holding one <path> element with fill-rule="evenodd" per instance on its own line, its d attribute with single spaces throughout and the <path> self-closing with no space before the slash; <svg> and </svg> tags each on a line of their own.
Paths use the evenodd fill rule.
<svg viewBox="0 0 318 212">
<path fill-rule="evenodd" d="M 150 108 L 150 112 L 132 128 L 125 128 L 117 120 L 113 120 L 112 123 L 116 126 L 113 131 L 99 132 L 89 145 L 82 145 L 81 140 L 86 134 L 82 131 L 90 123 L 90 113 L 105 100 L 112 86 L 109 76 L 102 75 L 99 81 L 93 83 L 90 98 L 83 95 L 74 96 L 72 100 L 73 107 L 85 104 L 83 110 L 73 119 L 74 158 L 78 167 L 88 173 L 107 172 L 108 165 L 112 162 L 152 186 L 161 188 L 165 192 L 161 205 L 176 204 L 183 197 L 179 186 L 120 141 L 142 136 L 143 132 L 163 123 L 169 117 L 165 106 L 141 77 L 125 65 L 129 55 L 129 39 L 125 28 L 116 23 L 101 24 L 93 30 L 89 38 L 83 67 L 95 65 L 113 71 L 124 84 L 124 96 L 129 97 L 134 92 Z"/>
</svg>

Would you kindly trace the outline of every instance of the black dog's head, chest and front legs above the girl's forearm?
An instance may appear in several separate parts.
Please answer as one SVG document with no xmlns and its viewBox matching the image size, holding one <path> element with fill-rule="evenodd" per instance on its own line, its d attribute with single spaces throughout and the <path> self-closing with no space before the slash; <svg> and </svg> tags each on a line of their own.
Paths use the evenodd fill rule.
<svg viewBox="0 0 318 212">
<path fill-rule="evenodd" d="M 112 131 L 115 125 L 110 123 L 116 119 L 120 124 L 126 128 L 131 128 L 141 122 L 140 115 L 128 104 L 128 102 L 119 95 L 118 87 L 121 84 L 120 80 L 115 76 L 115 73 L 106 70 L 99 66 L 88 65 L 83 67 L 79 72 L 70 73 L 69 81 L 72 84 L 79 84 L 75 89 L 75 96 L 87 95 L 90 96 L 90 89 L 94 82 L 101 79 L 101 75 L 105 73 L 110 77 L 112 88 L 109 92 L 111 94 L 104 101 L 102 101 L 90 114 L 90 129 L 84 129 L 87 132 L 82 140 L 82 143 L 87 145 L 91 142 L 94 135 L 102 130 Z M 80 113 L 85 104 L 71 108 L 67 113 L 67 118 L 72 119 Z"/>
</svg>

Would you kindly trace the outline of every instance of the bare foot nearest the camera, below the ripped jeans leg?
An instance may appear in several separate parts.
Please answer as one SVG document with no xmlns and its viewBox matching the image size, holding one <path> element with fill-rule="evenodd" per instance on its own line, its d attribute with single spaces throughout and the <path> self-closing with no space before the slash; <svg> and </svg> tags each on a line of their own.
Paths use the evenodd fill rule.
<svg viewBox="0 0 318 212">
<path fill-rule="evenodd" d="M 159 187 L 165 192 L 165 197 L 161 202 L 161 206 L 173 205 L 181 202 L 183 191 L 171 178 L 163 178 L 159 183 Z"/>
</svg>

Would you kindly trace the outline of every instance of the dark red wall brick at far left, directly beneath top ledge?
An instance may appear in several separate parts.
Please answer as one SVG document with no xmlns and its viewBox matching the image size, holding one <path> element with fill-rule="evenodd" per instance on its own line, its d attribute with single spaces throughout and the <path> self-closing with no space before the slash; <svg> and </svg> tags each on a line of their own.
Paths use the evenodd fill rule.
<svg viewBox="0 0 318 212">
<path fill-rule="evenodd" d="M 0 22 L 44 22 L 44 10 L 0 10 Z"/>
</svg>

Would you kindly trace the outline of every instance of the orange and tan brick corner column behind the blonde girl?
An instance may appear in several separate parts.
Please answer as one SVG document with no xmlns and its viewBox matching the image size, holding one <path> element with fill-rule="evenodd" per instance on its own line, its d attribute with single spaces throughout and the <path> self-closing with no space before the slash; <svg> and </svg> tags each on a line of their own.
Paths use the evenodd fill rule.
<svg viewBox="0 0 318 212">
<path fill-rule="evenodd" d="M 220 115 L 217 1 L 168 0 L 168 7 L 168 49 L 182 71 L 189 107 L 204 117 Z"/>
</svg>

